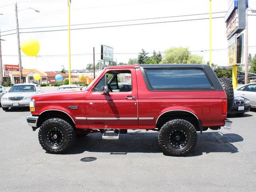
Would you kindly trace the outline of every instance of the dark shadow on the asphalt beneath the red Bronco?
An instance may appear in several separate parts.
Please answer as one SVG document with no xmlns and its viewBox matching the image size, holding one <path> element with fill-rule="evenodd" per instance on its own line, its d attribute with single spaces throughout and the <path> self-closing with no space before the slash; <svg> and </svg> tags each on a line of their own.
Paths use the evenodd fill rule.
<svg viewBox="0 0 256 192">
<path fill-rule="evenodd" d="M 198 133 L 198 142 L 190 156 L 200 156 L 203 153 L 228 152 L 236 153 L 238 149 L 232 144 L 244 139 L 238 134 L 222 134 L 221 132 Z M 162 153 L 158 144 L 158 132 L 136 132 L 120 134 L 119 140 L 102 140 L 102 134 L 88 134 L 77 138 L 76 144 L 66 154 L 81 154 L 88 152 L 107 153 Z"/>
</svg>

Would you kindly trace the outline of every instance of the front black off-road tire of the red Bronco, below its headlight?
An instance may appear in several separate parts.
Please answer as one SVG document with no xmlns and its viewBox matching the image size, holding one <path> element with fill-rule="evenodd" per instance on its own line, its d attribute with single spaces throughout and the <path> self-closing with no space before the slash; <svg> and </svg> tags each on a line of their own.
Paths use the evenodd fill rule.
<svg viewBox="0 0 256 192">
<path fill-rule="evenodd" d="M 62 134 L 62 142 L 59 146 L 53 146 L 49 132 L 53 129 L 60 130 Z M 75 142 L 76 133 L 70 123 L 60 118 L 51 118 L 46 120 L 38 131 L 38 139 L 42 148 L 52 154 L 65 153 Z"/>
</svg>

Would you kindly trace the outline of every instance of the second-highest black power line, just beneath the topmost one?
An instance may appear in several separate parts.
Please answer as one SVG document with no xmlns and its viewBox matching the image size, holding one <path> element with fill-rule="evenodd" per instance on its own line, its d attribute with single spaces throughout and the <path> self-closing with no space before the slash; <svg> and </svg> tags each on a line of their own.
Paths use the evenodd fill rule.
<svg viewBox="0 0 256 192">
<path fill-rule="evenodd" d="M 212 19 L 224 18 L 224 17 L 213 17 Z M 162 22 L 150 22 L 150 23 L 137 23 L 137 24 L 123 24 L 123 25 L 113 25 L 113 26 L 98 26 L 98 27 L 88 27 L 88 28 L 75 28 L 70 30 L 82 30 L 82 29 L 96 29 L 96 28 L 108 28 L 108 27 L 120 27 L 120 26 L 136 26 L 136 25 L 147 25 L 147 24 L 159 24 L 159 23 L 171 23 L 171 22 L 184 22 L 184 21 L 196 21 L 196 20 L 205 20 L 209 18 L 199 18 L 199 19 L 186 19 L 186 20 L 175 20 L 175 21 L 162 21 Z M 55 31 L 67 31 L 68 29 L 58 29 L 58 30 L 44 30 L 44 31 L 28 31 L 20 33 L 39 33 L 39 32 L 55 32 Z M 12 33 L 16 34 L 16 33 Z M 5 34 L 2 36 L 12 35 Z"/>
</svg>

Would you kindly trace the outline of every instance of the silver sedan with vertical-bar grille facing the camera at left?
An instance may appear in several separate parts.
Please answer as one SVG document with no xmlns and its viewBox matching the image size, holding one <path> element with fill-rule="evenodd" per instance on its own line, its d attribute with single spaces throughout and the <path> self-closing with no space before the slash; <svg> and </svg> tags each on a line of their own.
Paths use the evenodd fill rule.
<svg viewBox="0 0 256 192">
<path fill-rule="evenodd" d="M 2 96 L 2 109 L 6 111 L 9 107 L 29 106 L 31 97 L 42 92 L 43 90 L 37 84 L 16 84 Z"/>
</svg>

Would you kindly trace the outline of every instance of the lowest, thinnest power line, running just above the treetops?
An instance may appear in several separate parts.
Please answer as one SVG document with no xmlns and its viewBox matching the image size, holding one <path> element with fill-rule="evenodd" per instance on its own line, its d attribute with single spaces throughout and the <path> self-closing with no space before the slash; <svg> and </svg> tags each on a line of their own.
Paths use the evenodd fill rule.
<svg viewBox="0 0 256 192">
<path fill-rule="evenodd" d="M 248 48 L 256 47 L 254 46 L 248 46 Z M 212 51 L 223 51 L 223 50 L 228 50 L 227 48 L 222 48 L 222 49 L 212 49 Z M 174 51 L 171 53 L 185 53 L 185 52 L 205 52 L 205 51 L 210 51 L 210 50 L 192 50 L 192 51 Z M 153 54 L 153 52 L 148 52 L 149 54 Z M 158 52 L 159 53 L 159 52 Z M 164 53 L 164 52 L 160 52 Z M 101 53 L 95 53 L 95 54 L 101 54 Z M 134 53 L 114 53 L 114 54 L 139 54 L 138 52 Z M 71 54 L 71 56 L 86 56 L 86 55 L 93 55 L 93 53 L 79 53 L 79 54 Z M 2 56 L 12 56 L 16 57 L 18 55 L 2 55 Z M 28 57 L 26 55 L 23 55 L 25 57 Z M 60 54 L 60 55 L 38 55 L 38 57 L 62 57 L 62 56 L 68 56 L 68 54 Z"/>
</svg>

